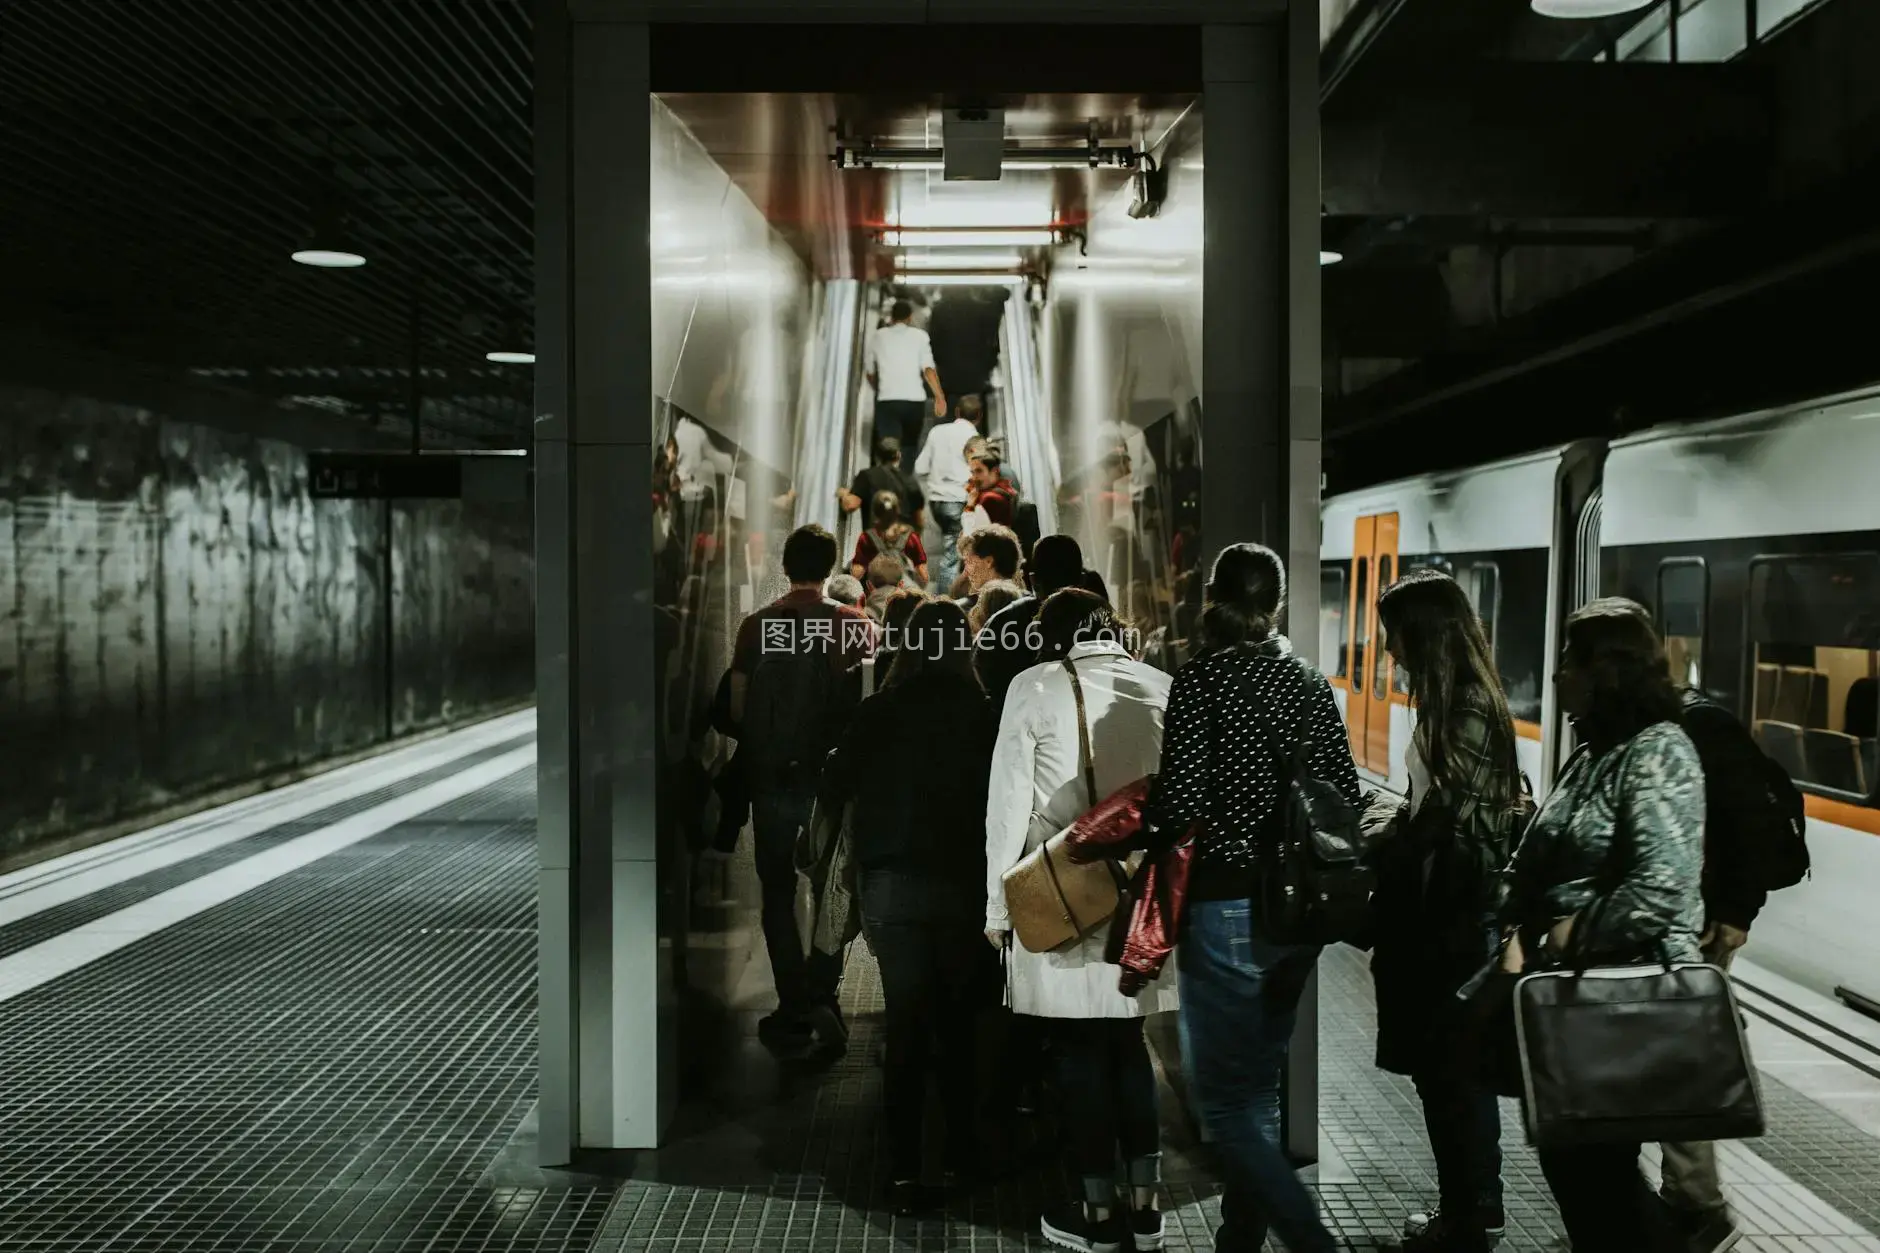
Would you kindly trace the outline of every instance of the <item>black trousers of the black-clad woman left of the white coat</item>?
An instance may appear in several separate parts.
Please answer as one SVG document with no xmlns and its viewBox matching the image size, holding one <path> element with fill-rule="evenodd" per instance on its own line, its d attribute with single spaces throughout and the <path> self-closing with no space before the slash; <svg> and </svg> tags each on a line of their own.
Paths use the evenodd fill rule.
<svg viewBox="0 0 1880 1253">
<path fill-rule="evenodd" d="M 889 1165 L 895 1180 L 917 1180 L 929 1080 L 946 1108 L 948 1159 L 964 1163 L 972 1155 L 979 1087 L 974 1029 L 991 950 L 970 914 L 948 922 L 863 914 L 863 926 L 887 1008 L 882 1104 Z"/>
</svg>

